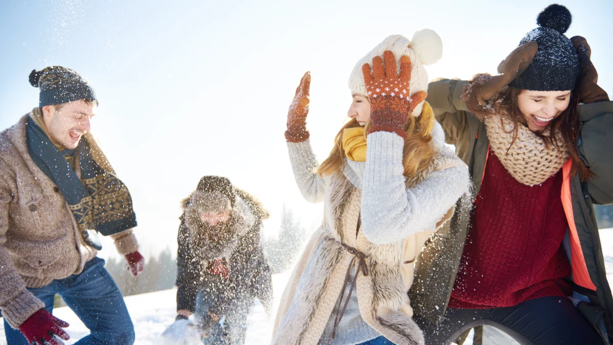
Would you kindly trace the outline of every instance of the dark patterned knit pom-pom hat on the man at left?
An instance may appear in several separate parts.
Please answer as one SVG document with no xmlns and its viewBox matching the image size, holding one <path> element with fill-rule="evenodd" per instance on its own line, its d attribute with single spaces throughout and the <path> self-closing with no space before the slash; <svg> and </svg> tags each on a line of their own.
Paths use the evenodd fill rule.
<svg viewBox="0 0 613 345">
<path fill-rule="evenodd" d="M 69 103 L 80 99 L 96 101 L 96 93 L 85 78 L 72 69 L 49 66 L 40 71 L 32 69 L 29 82 L 40 88 L 39 107 Z"/>
</svg>

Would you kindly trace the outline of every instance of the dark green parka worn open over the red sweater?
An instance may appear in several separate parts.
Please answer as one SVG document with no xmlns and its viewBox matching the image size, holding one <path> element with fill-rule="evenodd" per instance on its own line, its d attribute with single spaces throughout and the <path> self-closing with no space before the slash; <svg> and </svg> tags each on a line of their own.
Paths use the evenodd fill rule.
<svg viewBox="0 0 613 345">
<path fill-rule="evenodd" d="M 451 297 L 468 231 L 468 209 L 481 188 L 489 151 L 484 124 L 469 112 L 460 97 L 466 83 L 463 80 L 441 79 L 428 86 L 427 101 L 435 112 L 436 120 L 443 126 L 445 141 L 455 145 L 455 152 L 468 165 L 474 184 L 471 200 L 465 198 L 459 201 L 451 222 L 427 242 L 416 263 L 416 277 L 409 292 L 411 304 L 418 316 L 433 322 L 443 317 Z M 613 299 L 593 210 L 593 204 L 613 203 L 613 102 L 581 104 L 578 109 L 582 128 L 581 144 L 577 149 L 596 177 L 586 182 L 581 182 L 579 174 L 568 177 L 568 211 L 572 209 L 585 267 L 593 283 L 590 285 L 596 289 L 592 291 L 573 285 L 577 292 L 587 295 L 592 302 L 581 304 L 579 310 L 597 330 L 606 327 L 613 341 Z M 598 327 L 598 324 L 603 326 Z"/>
</svg>

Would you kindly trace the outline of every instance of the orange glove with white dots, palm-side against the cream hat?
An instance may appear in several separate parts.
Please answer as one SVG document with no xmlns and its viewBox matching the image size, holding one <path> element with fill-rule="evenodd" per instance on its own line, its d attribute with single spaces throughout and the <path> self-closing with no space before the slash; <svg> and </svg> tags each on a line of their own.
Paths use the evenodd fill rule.
<svg viewBox="0 0 613 345">
<path fill-rule="evenodd" d="M 398 76 L 394 53 L 390 50 L 383 52 L 383 60 L 381 56 L 373 58 L 374 77 L 369 64 L 365 63 L 362 66 L 364 83 L 370 99 L 372 126 L 368 134 L 386 131 L 396 133 L 403 139 L 406 137 L 407 119 L 428 95 L 426 91 L 417 91 L 409 95 L 412 68 L 411 59 L 406 55 L 400 56 L 400 76 Z"/>
</svg>

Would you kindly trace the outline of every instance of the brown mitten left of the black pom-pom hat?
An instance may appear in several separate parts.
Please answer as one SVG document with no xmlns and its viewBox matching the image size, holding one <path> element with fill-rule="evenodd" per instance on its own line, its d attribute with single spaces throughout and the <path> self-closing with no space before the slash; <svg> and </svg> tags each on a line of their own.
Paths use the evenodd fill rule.
<svg viewBox="0 0 613 345">
<path fill-rule="evenodd" d="M 474 83 L 470 92 L 466 95 L 468 109 L 473 112 L 482 111 L 488 99 L 502 91 L 513 79 L 524 73 L 535 57 L 536 50 L 538 50 L 538 44 L 535 41 L 520 45 L 498 65 L 498 73 L 500 73 L 498 76 Z"/>
</svg>

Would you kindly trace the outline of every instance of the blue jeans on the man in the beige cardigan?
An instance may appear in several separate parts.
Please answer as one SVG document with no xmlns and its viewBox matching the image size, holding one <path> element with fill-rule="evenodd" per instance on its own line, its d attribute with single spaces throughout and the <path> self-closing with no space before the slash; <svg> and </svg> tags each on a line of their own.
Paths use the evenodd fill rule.
<svg viewBox="0 0 613 345">
<path fill-rule="evenodd" d="M 96 257 L 85 263 L 80 274 L 28 290 L 42 300 L 45 309 L 50 312 L 53 311 L 53 299 L 58 293 L 89 328 L 91 334 L 75 345 L 134 344 L 134 325 L 128 308 L 115 281 L 104 268 L 104 260 L 101 258 Z M 25 336 L 19 330 L 11 328 L 6 321 L 4 333 L 7 345 L 28 345 Z"/>
</svg>

